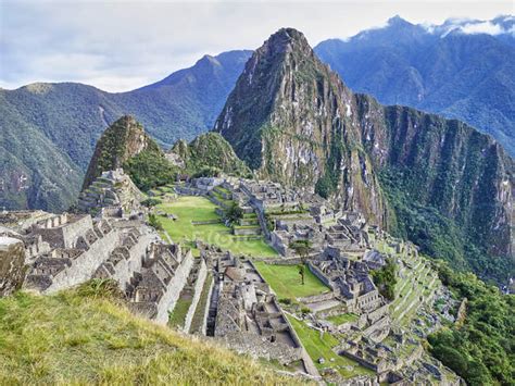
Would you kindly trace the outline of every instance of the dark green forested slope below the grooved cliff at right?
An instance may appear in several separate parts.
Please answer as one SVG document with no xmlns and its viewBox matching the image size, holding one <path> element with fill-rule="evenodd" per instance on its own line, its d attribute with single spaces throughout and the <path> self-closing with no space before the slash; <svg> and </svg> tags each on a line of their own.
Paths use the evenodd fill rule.
<svg viewBox="0 0 515 386">
<path fill-rule="evenodd" d="M 514 275 L 511 259 L 492 257 L 486 250 L 488 229 L 482 228 L 478 236 L 439 211 L 436 207 L 424 204 L 418 195 L 425 183 L 416 180 L 415 172 L 384 170 L 380 182 L 386 192 L 390 212 L 390 232 L 400 238 L 410 239 L 420 247 L 420 251 L 432 258 L 448 261 L 460 271 L 470 270 L 486 279 L 505 283 Z M 488 209 L 488 208 L 487 208 Z M 486 209 L 481 209 L 486 210 Z M 467 217 L 463 214 L 464 217 Z M 483 214 L 488 219 L 488 214 Z M 478 224 L 481 222 L 477 219 Z M 476 224 L 474 227 L 478 227 Z M 482 227 L 483 225 L 481 225 Z"/>
</svg>

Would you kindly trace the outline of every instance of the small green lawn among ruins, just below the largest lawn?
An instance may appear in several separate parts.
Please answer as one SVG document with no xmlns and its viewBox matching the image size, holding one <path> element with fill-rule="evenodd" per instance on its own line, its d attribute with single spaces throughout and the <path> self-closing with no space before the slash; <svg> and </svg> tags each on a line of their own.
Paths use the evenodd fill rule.
<svg viewBox="0 0 515 386">
<path fill-rule="evenodd" d="M 262 261 L 256 261 L 254 264 L 279 299 L 303 298 L 329 290 L 307 266 L 304 270 L 304 285 L 302 285 L 297 265 L 272 265 Z"/>
</svg>

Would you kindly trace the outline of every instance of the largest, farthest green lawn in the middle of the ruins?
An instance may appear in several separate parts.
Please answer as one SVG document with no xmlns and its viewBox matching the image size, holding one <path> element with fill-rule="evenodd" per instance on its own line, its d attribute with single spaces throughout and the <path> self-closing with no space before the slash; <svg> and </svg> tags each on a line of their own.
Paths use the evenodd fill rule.
<svg viewBox="0 0 515 386">
<path fill-rule="evenodd" d="M 164 202 L 155 207 L 166 213 L 175 214 L 178 220 L 160 217 L 161 224 L 174 242 L 189 242 L 200 239 L 216 245 L 237 254 L 253 257 L 275 257 L 277 252 L 262 238 L 242 240 L 230 234 L 230 228 L 222 223 L 193 225 L 191 222 L 219 220 L 216 206 L 204 197 L 181 196 L 176 201 Z"/>
</svg>

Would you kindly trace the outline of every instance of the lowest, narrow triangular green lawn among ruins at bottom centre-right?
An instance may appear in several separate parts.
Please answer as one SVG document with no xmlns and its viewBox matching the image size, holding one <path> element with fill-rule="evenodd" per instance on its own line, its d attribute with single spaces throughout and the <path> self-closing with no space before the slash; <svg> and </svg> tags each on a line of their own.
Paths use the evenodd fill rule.
<svg viewBox="0 0 515 386">
<path fill-rule="evenodd" d="M 299 339 L 306 349 L 311 359 L 318 369 L 334 368 L 343 377 L 349 378 L 356 375 L 374 375 L 375 373 L 363 368 L 357 362 L 349 358 L 338 356 L 332 351 L 332 347 L 338 345 L 338 339 L 328 333 L 321 336 L 318 331 L 310 328 L 304 322 L 297 320 L 290 315 L 287 316 L 291 325 L 297 332 Z M 324 358 L 325 363 L 318 363 L 318 358 Z M 331 359 L 334 361 L 331 361 Z M 352 368 L 352 369 L 351 369 Z"/>
</svg>

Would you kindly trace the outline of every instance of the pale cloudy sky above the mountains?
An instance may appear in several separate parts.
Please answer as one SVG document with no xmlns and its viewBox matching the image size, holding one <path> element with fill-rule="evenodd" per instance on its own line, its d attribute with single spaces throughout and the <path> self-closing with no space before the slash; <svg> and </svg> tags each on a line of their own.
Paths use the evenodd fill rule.
<svg viewBox="0 0 515 386">
<path fill-rule="evenodd" d="M 0 0 L 0 87 L 79 82 L 126 91 L 204 54 L 255 49 L 280 27 L 312 46 L 386 25 L 514 14 L 515 1 L 98 1 Z M 477 26 L 470 26 L 478 28 Z"/>
</svg>

